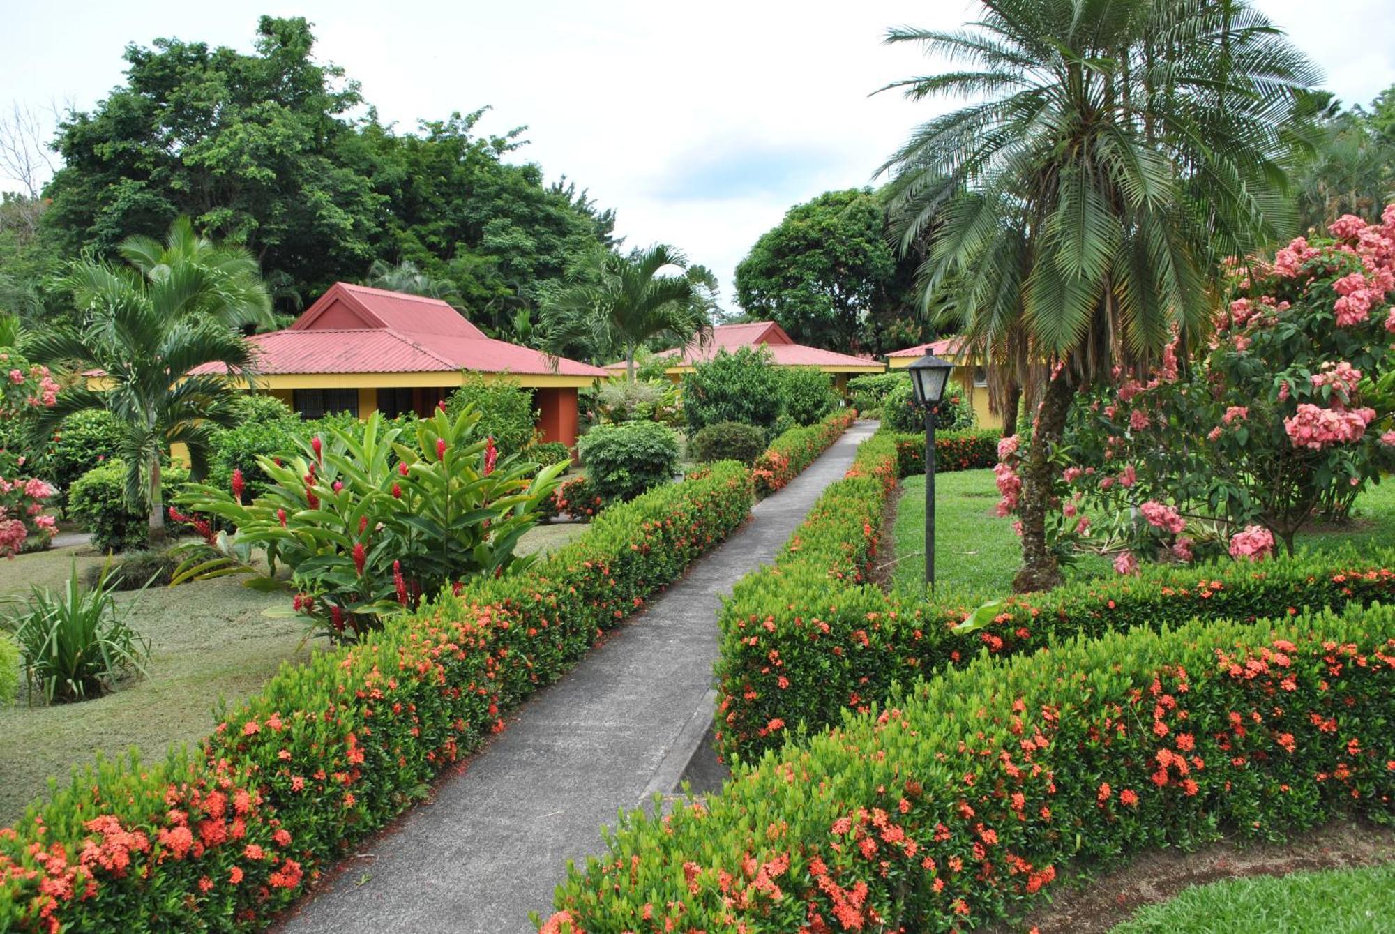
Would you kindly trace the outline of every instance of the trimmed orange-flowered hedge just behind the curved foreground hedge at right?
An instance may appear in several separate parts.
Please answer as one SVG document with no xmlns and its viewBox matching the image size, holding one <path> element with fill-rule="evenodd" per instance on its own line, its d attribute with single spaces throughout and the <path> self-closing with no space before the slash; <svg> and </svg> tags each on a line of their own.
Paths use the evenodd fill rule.
<svg viewBox="0 0 1395 934">
<path fill-rule="evenodd" d="M 847 524 L 855 521 L 854 514 Z M 848 576 L 845 565 L 834 566 Z M 801 722 L 824 729 L 844 712 L 880 703 L 896 680 L 963 665 L 981 651 L 1030 654 L 1052 638 L 1176 626 L 1194 616 L 1262 619 L 1388 604 L 1395 599 L 1392 566 L 1389 552 L 1314 555 L 1258 567 L 1154 566 L 1140 576 L 1067 584 L 974 611 L 841 584 L 817 562 L 785 556 L 774 572 L 738 583 L 724 608 L 720 746 L 725 756 L 759 757 Z"/>
</svg>

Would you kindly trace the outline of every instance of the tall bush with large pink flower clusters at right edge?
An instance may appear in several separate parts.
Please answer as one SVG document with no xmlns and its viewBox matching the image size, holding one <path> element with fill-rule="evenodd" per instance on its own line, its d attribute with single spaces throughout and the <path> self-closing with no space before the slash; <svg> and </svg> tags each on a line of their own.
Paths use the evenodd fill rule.
<svg viewBox="0 0 1395 934">
<path fill-rule="evenodd" d="M 1204 355 L 1176 342 L 1147 381 L 1096 388 L 1066 438 L 1053 506 L 1092 545 L 1257 559 L 1315 513 L 1342 513 L 1395 464 L 1395 205 L 1345 216 L 1272 262 L 1232 269 Z M 1091 526 L 1092 523 L 1092 526 Z M 1076 544 L 1080 544 L 1077 539 Z"/>
</svg>

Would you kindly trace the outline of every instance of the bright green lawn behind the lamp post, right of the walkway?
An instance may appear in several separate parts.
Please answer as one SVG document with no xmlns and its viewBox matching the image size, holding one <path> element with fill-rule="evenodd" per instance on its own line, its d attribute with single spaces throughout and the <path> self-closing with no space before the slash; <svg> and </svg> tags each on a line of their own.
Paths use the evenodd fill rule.
<svg viewBox="0 0 1395 934">
<path fill-rule="evenodd" d="M 893 585 L 918 591 L 925 580 L 925 477 L 907 477 L 897 506 Z M 1023 552 L 1011 520 L 993 514 L 997 488 L 992 470 L 960 470 L 935 475 L 935 577 L 940 599 L 974 605 L 1011 591 Z M 1395 478 L 1367 489 L 1352 519 L 1315 526 L 1299 535 L 1299 548 L 1360 551 L 1395 546 Z M 890 556 L 886 560 L 891 560 Z M 1109 562 L 1085 555 L 1066 570 L 1067 579 L 1112 574 Z"/>
</svg>

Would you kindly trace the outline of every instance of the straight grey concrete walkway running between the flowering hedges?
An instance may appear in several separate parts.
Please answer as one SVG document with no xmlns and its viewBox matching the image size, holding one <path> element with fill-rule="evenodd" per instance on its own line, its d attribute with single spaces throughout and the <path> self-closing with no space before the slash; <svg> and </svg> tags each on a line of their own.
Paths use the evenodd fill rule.
<svg viewBox="0 0 1395 934">
<path fill-rule="evenodd" d="M 523 704 L 459 778 L 364 845 L 287 934 L 533 931 L 566 860 L 603 850 L 619 809 L 671 792 L 711 717 L 720 597 L 774 558 L 875 429 L 855 424 L 647 612 Z"/>
</svg>

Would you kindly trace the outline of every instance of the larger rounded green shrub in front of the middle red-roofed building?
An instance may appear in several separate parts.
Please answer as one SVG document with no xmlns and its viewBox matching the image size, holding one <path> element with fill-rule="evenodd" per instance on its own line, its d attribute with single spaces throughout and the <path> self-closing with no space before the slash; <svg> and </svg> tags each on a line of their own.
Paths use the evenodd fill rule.
<svg viewBox="0 0 1395 934">
<path fill-rule="evenodd" d="M 693 432 L 721 421 L 770 429 L 781 413 L 780 372 L 764 347 L 725 349 L 684 374 L 684 415 Z"/>
</svg>

